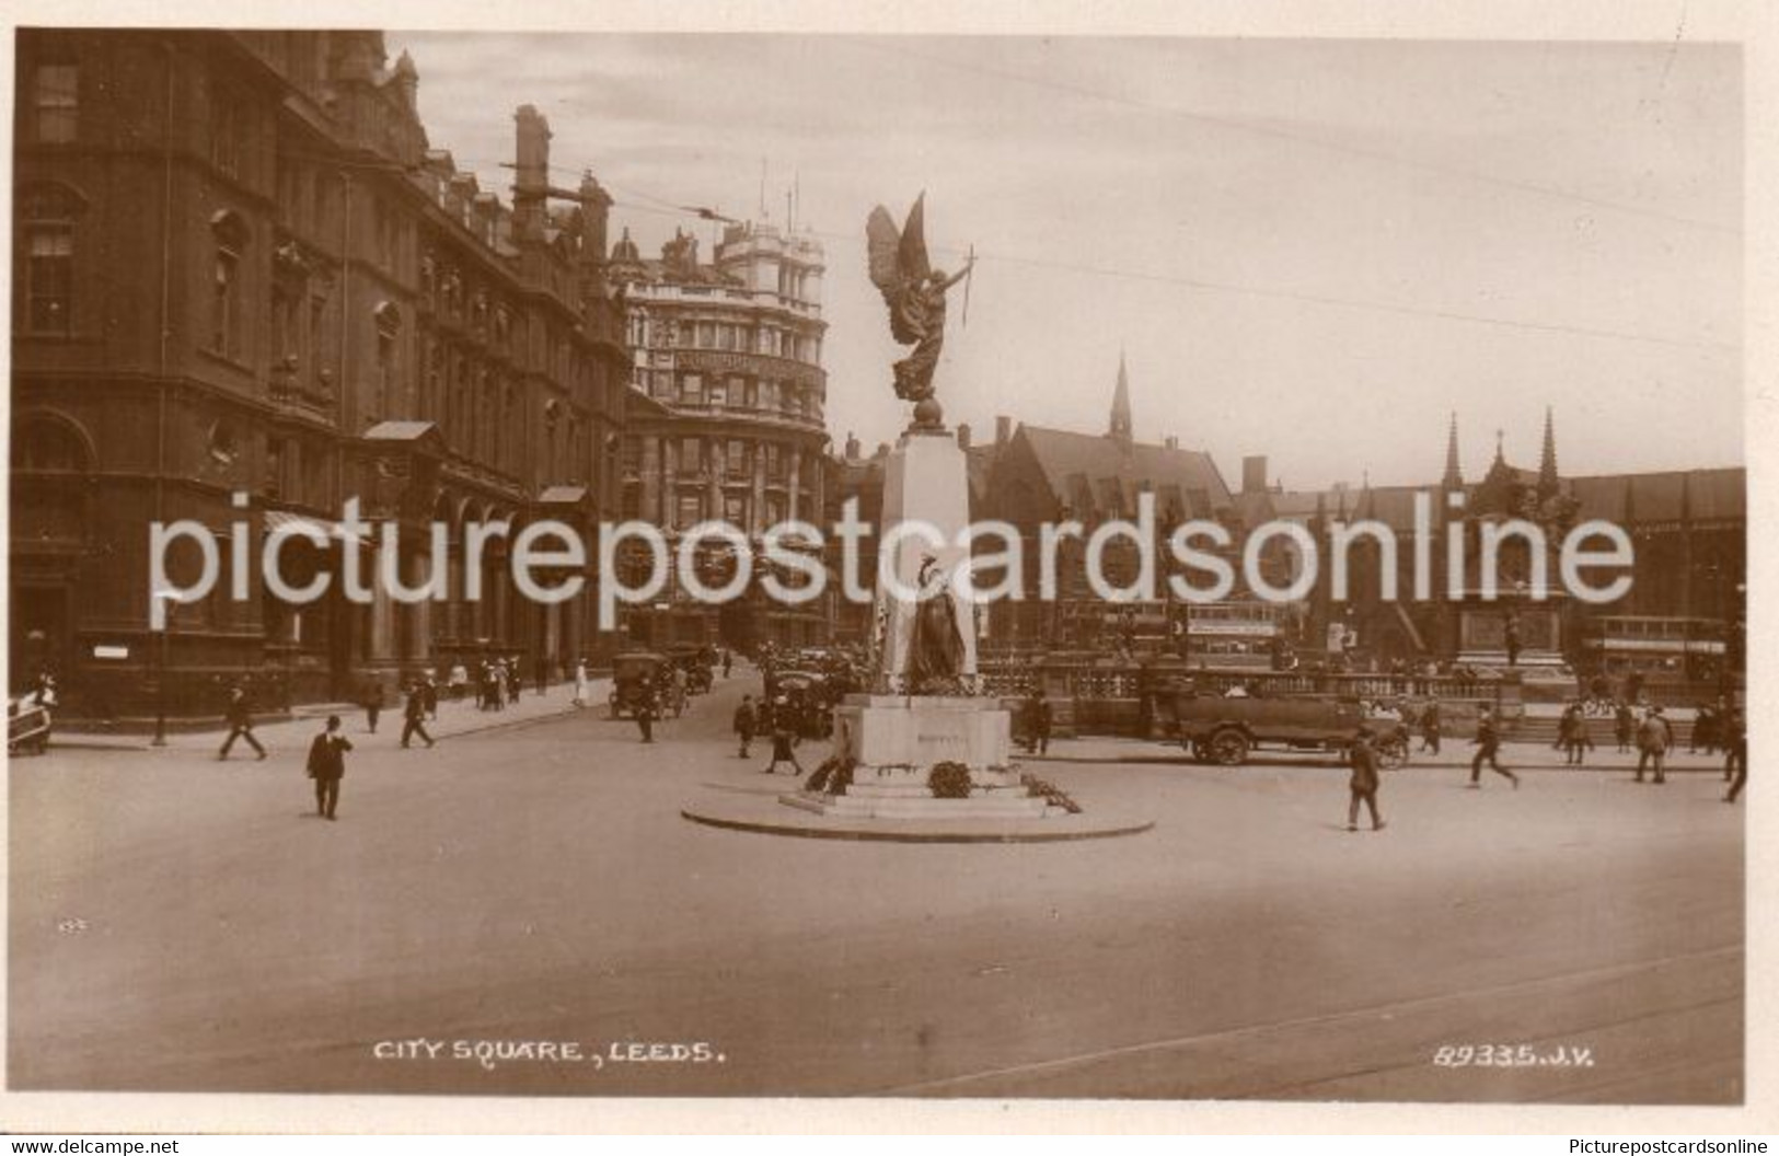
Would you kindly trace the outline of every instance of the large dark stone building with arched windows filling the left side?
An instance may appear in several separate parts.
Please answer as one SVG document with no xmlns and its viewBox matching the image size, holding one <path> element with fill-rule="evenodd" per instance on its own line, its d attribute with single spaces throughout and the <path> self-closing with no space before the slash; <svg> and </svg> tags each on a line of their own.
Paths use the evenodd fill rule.
<svg viewBox="0 0 1779 1156">
<path fill-rule="evenodd" d="M 21 30 L 14 92 L 11 614 L 14 678 L 53 667 L 80 713 L 212 713 L 221 679 L 338 699 L 507 653 L 598 651 L 582 605 L 461 598 L 463 523 L 616 514 L 628 359 L 605 285 L 607 197 L 548 185 L 518 117 L 512 208 L 429 148 L 418 71 L 377 32 Z M 559 201 L 551 208 L 551 199 Z M 237 500 L 237 494 L 244 498 Z M 340 596 L 338 525 L 452 526 L 452 598 Z M 149 523 L 222 546 L 219 590 L 149 631 Z M 249 558 L 229 592 L 229 526 Z M 256 564 L 334 590 L 285 603 Z M 591 551 L 589 551 L 591 553 Z M 187 582 L 196 550 L 173 555 Z M 165 669 L 167 694 L 157 690 Z"/>
</svg>

